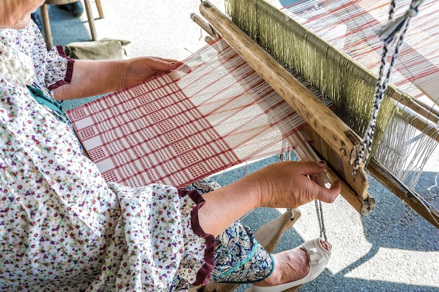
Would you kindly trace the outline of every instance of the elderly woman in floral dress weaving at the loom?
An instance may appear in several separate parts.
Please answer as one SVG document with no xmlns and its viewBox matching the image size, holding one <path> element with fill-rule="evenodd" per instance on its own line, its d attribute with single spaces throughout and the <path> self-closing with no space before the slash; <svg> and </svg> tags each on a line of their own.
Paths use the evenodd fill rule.
<svg viewBox="0 0 439 292">
<path fill-rule="evenodd" d="M 257 207 L 332 202 L 339 183 L 327 189 L 307 178 L 325 162 L 279 162 L 208 186 L 203 197 L 201 188 L 107 183 L 55 100 L 119 90 L 177 61 L 47 52 L 30 21 L 41 4 L 0 0 L 1 291 L 182 291 L 208 281 L 283 291 L 317 277 L 329 244 L 271 255 L 238 218 Z"/>
</svg>

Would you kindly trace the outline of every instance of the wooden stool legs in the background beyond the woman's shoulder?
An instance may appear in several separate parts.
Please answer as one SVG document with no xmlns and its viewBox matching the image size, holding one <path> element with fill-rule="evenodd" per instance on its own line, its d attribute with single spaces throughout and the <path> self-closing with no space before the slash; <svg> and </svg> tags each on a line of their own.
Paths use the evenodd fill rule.
<svg viewBox="0 0 439 292">
<path fill-rule="evenodd" d="M 44 39 L 46 39 L 46 48 L 50 50 L 53 47 L 53 40 L 52 40 L 52 31 L 50 30 L 50 21 L 49 21 L 49 13 L 47 4 L 55 4 L 55 5 L 65 5 L 65 4 L 72 4 L 76 2 L 77 0 L 46 0 L 44 4 L 41 6 L 41 21 L 43 22 L 43 28 L 44 28 Z M 88 25 L 90 25 L 90 33 L 91 33 L 91 39 L 93 41 L 96 41 L 96 27 L 95 27 L 95 20 L 93 18 L 93 13 L 91 11 L 90 1 L 89 0 L 83 0 L 84 6 L 86 6 L 86 13 L 88 18 Z M 104 12 L 102 11 L 102 6 L 100 4 L 100 0 L 95 0 L 97 11 L 99 13 L 99 18 L 104 18 Z"/>
</svg>

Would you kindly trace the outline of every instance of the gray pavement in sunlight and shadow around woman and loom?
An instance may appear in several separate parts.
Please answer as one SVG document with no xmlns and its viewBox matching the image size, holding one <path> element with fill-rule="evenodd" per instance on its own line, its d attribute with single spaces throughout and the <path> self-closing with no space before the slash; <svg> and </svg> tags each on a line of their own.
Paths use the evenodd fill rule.
<svg viewBox="0 0 439 292">
<path fill-rule="evenodd" d="M 286 1 L 273 0 L 276 6 Z M 292 1 L 290 1 L 292 2 Z M 128 57 L 153 55 L 182 59 L 205 45 L 205 34 L 189 18 L 198 13 L 200 1 L 102 0 L 104 18 L 95 21 L 98 39 L 109 37 L 131 41 L 126 46 Z M 212 0 L 224 11 L 222 0 Z M 92 3 L 92 7 L 95 5 Z M 86 16 L 72 18 L 50 7 L 55 44 L 65 46 L 74 41 L 89 41 Z M 97 15 L 97 11 L 95 11 Z M 69 109 L 90 99 L 66 102 Z M 428 162 L 419 183 L 419 193 L 439 202 L 439 188 L 434 184 L 439 171 L 438 155 Z M 217 176 L 221 184 L 241 178 L 265 164 L 267 158 Z M 359 216 L 339 197 L 334 204 L 324 204 L 325 225 L 333 253 L 327 269 L 300 291 L 439 291 L 439 230 L 407 207 L 371 179 L 370 193 L 377 207 L 367 216 Z M 313 204 L 300 208 L 302 217 L 285 232 L 276 251 L 290 249 L 302 241 L 319 235 Z M 278 216 L 282 209 L 257 209 L 243 218 L 252 228 Z M 245 291 L 245 287 L 239 291 Z"/>
</svg>

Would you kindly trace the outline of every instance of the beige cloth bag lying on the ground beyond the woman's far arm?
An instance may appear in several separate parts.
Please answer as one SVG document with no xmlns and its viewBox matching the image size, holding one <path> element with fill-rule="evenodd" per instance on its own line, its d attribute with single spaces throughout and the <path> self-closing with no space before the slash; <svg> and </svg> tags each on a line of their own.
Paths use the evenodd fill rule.
<svg viewBox="0 0 439 292">
<path fill-rule="evenodd" d="M 123 46 L 130 41 L 101 39 L 100 41 L 80 41 L 65 46 L 68 57 L 76 60 L 121 60 L 126 58 Z"/>
</svg>

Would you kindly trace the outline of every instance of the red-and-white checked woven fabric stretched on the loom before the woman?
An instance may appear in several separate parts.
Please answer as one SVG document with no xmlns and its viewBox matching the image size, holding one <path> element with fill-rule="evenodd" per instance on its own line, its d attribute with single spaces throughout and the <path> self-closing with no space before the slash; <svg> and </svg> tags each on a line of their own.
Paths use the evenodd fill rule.
<svg viewBox="0 0 439 292">
<path fill-rule="evenodd" d="M 67 114 L 104 179 L 186 186 L 281 152 L 302 118 L 227 43 Z"/>
</svg>

